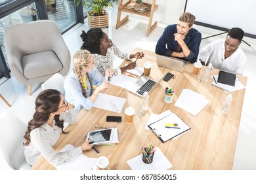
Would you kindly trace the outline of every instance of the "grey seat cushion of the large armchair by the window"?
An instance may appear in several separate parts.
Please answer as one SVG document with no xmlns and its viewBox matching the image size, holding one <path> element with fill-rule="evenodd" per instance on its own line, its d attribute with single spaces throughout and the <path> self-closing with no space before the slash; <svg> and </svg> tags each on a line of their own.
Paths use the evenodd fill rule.
<svg viewBox="0 0 256 183">
<path fill-rule="evenodd" d="M 46 51 L 22 57 L 22 68 L 24 76 L 31 79 L 58 73 L 63 65 L 53 51 Z"/>
</svg>

